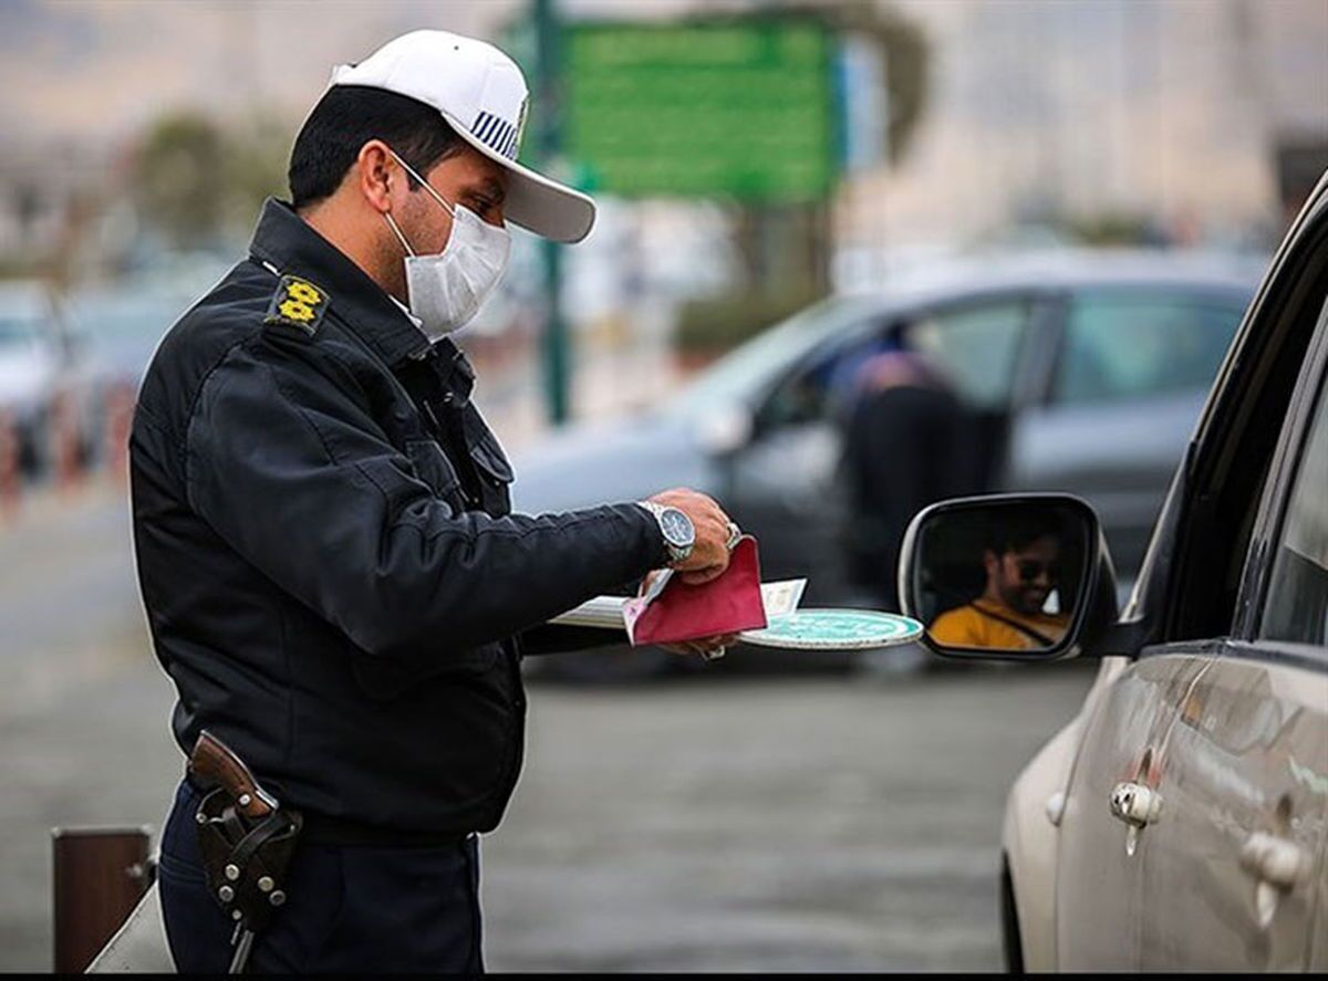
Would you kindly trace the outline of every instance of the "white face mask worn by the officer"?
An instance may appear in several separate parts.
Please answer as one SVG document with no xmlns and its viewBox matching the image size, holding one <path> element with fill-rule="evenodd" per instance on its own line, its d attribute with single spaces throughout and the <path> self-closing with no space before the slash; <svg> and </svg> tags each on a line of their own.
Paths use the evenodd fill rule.
<svg viewBox="0 0 1328 981">
<path fill-rule="evenodd" d="M 506 228 L 489 224 L 470 208 L 452 206 L 405 161 L 392 154 L 421 186 L 452 215 L 452 234 L 438 255 L 416 255 L 401 228 L 385 214 L 388 224 L 406 250 L 406 295 L 410 313 L 436 341 L 467 324 L 502 279 L 511 251 Z"/>
</svg>

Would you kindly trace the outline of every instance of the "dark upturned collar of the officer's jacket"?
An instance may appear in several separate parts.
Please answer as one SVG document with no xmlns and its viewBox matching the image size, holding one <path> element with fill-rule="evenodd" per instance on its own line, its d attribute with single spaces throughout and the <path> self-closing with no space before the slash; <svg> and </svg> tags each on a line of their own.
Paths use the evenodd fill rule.
<svg viewBox="0 0 1328 981">
<path fill-rule="evenodd" d="M 320 287 L 331 297 L 332 312 L 389 368 L 429 353 L 429 339 L 410 323 L 400 304 L 286 202 L 268 198 L 263 204 L 250 254 L 275 265 L 283 276 L 303 276 Z M 444 339 L 436 346 L 444 362 L 454 361 L 454 354 L 465 361 L 450 340 Z"/>
</svg>

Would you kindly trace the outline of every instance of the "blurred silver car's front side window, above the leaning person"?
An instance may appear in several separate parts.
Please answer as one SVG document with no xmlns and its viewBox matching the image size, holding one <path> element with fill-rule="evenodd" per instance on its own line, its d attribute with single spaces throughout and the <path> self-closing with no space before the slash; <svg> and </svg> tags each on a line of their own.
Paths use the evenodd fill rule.
<svg viewBox="0 0 1328 981">
<path fill-rule="evenodd" d="M 910 327 L 907 344 L 944 368 L 969 405 L 1004 409 L 1011 401 L 1028 315 L 1027 300 L 935 311 Z"/>
</svg>

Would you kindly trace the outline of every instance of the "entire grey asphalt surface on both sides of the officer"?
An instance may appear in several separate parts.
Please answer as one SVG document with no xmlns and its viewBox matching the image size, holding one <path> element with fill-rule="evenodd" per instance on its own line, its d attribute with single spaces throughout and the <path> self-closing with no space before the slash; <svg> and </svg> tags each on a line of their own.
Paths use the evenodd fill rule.
<svg viewBox="0 0 1328 981">
<path fill-rule="evenodd" d="M 0 527 L 0 970 L 49 970 L 49 830 L 159 827 L 182 762 L 122 490 Z M 1090 678 L 535 686 L 526 773 L 483 842 L 487 965 L 997 970 L 1005 790 Z"/>
</svg>

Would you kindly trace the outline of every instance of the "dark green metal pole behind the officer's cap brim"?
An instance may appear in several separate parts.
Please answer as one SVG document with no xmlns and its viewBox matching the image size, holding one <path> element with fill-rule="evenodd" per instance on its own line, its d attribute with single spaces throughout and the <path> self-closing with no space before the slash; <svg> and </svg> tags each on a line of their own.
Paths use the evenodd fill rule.
<svg viewBox="0 0 1328 981">
<path fill-rule="evenodd" d="M 535 44 L 538 50 L 537 92 L 539 98 L 539 158 L 546 169 L 556 167 L 562 150 L 562 98 L 559 92 L 559 28 L 554 0 L 534 0 Z M 548 421 L 560 426 L 567 421 L 568 341 L 562 311 L 562 247 L 544 240 L 544 394 Z"/>
</svg>

